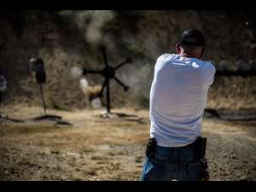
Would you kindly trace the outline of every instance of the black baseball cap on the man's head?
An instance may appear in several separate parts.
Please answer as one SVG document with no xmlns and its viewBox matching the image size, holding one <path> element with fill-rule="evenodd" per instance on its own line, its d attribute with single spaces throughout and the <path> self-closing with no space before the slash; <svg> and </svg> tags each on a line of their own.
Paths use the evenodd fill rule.
<svg viewBox="0 0 256 192">
<path fill-rule="evenodd" d="M 206 46 L 206 40 L 200 31 L 196 29 L 188 29 L 183 32 L 181 38 L 179 38 L 177 44 L 187 46 Z"/>
</svg>

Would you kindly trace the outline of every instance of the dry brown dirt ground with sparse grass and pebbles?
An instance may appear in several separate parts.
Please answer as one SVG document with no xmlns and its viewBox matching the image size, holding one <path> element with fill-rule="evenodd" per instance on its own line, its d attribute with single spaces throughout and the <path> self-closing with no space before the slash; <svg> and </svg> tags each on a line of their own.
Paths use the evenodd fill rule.
<svg viewBox="0 0 256 192">
<path fill-rule="evenodd" d="M 33 122 L 40 108 L 4 109 L 26 123 L 0 123 L 0 180 L 137 181 L 149 137 L 148 111 L 49 111 L 72 123 Z M 121 114 L 121 113 L 125 113 Z M 136 115 L 136 116 L 133 116 Z M 204 119 L 212 181 L 256 180 L 256 121 Z"/>
</svg>

